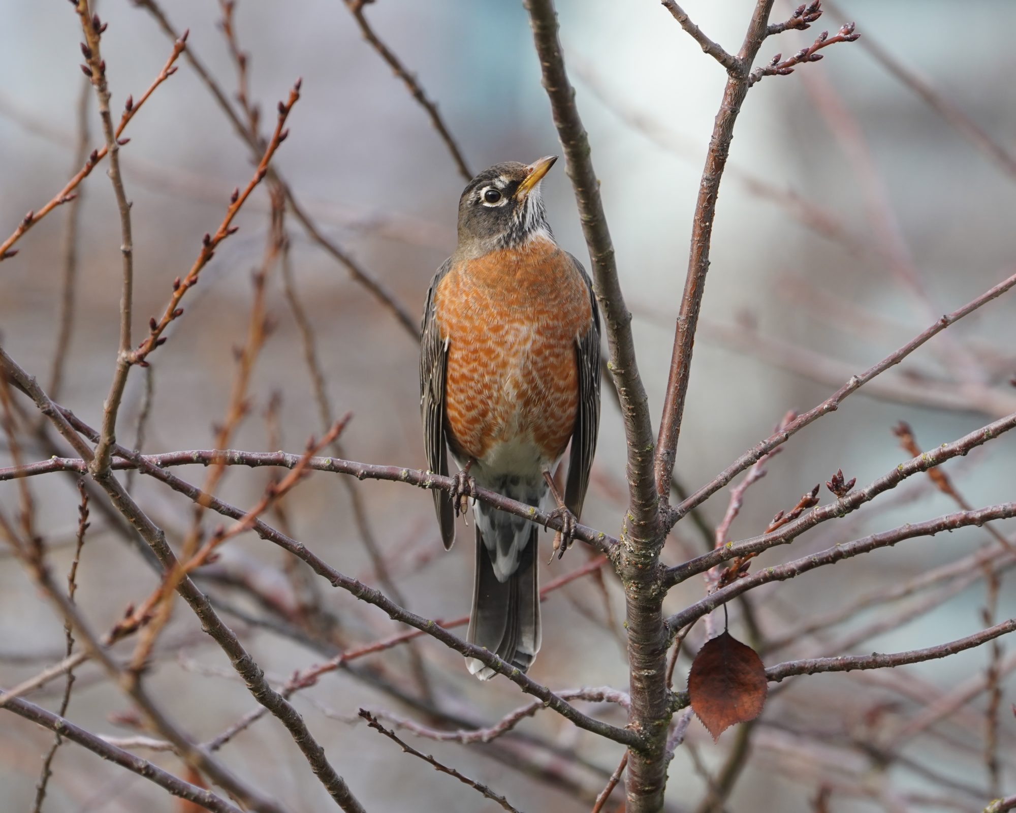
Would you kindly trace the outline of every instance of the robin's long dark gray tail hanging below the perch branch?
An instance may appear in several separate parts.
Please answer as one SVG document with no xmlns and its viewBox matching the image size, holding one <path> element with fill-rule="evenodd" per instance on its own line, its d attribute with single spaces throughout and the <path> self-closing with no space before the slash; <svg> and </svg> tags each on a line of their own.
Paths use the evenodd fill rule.
<svg viewBox="0 0 1016 813">
<path fill-rule="evenodd" d="M 501 581 L 495 574 L 491 552 L 477 524 L 475 581 L 466 639 L 522 672 L 529 668 L 539 651 L 542 637 L 536 534 L 537 528 L 533 525 L 529 544 L 519 553 L 518 567 Z M 466 666 L 481 680 L 490 680 L 497 674 L 474 659 L 469 659 Z"/>
</svg>

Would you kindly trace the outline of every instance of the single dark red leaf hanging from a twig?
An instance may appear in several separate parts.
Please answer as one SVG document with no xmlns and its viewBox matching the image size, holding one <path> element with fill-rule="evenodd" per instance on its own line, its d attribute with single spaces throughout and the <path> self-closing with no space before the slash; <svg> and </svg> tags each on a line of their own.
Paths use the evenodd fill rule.
<svg viewBox="0 0 1016 813">
<path fill-rule="evenodd" d="M 737 723 L 755 720 L 768 691 L 762 660 L 725 631 L 705 642 L 688 675 L 692 709 L 713 740 Z"/>
</svg>

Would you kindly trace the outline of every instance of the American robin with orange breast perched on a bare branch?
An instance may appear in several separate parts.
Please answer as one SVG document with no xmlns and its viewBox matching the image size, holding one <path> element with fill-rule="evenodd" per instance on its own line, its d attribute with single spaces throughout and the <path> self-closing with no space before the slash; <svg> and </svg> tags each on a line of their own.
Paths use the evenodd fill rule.
<svg viewBox="0 0 1016 813">
<path fill-rule="evenodd" d="M 555 157 L 497 164 L 458 204 L 458 245 L 427 294 L 420 364 L 430 471 L 461 470 L 434 492 L 445 548 L 477 485 L 541 506 L 548 496 L 570 544 L 599 426 L 599 314 L 588 275 L 554 241 L 539 183 Z M 554 471 L 571 442 L 564 499 Z M 550 507 L 550 506 L 548 506 Z M 474 503 L 475 579 L 468 640 L 528 669 L 539 650 L 533 522 Z M 553 554 L 552 554 L 553 556 Z M 481 680 L 494 672 L 475 660 Z"/>
</svg>

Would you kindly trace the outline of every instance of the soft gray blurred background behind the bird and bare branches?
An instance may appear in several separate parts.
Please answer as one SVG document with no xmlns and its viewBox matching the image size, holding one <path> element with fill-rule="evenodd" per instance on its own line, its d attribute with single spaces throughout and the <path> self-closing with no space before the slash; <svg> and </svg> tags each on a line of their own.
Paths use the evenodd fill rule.
<svg viewBox="0 0 1016 813">
<path fill-rule="evenodd" d="M 710 37 L 736 51 L 753 5 L 748 0 L 689 0 L 685 7 Z M 725 76 L 658 3 L 562 0 L 559 6 L 566 58 L 601 180 L 622 283 L 635 314 L 640 368 L 658 415 L 695 195 Z M 7 77 L 0 87 L 0 237 L 25 211 L 39 209 L 76 171 L 76 109 L 85 81 L 77 67 L 80 29 L 66 3 L 7 2 L 3 10 L 14 36 L 5 38 L 0 51 L 0 73 Z M 103 55 L 116 116 L 128 93 L 136 100 L 148 86 L 171 43 L 152 16 L 132 3 L 102 0 L 98 10 L 109 22 Z M 165 11 L 178 29 L 190 28 L 189 47 L 232 97 L 236 70 L 216 24 L 218 4 L 175 0 Z M 529 162 L 559 151 L 521 4 L 384 0 L 367 5 L 365 13 L 437 101 L 473 172 L 500 161 Z M 777 2 L 772 19 L 789 13 L 789 4 Z M 776 51 L 789 55 L 822 29 L 835 30 L 846 20 L 855 20 L 863 38 L 927 81 L 1010 155 L 1016 154 L 1016 85 L 1011 79 L 1016 52 L 1010 44 L 1016 6 L 1000 0 L 839 0 L 810 30 L 769 40 L 760 63 Z M 432 274 L 454 248 L 463 186 L 425 112 L 363 41 L 353 15 L 337 0 L 240 0 L 235 27 L 249 54 L 250 97 L 265 112 L 266 125 L 273 123 L 275 104 L 293 81 L 298 76 L 304 80 L 290 137 L 274 166 L 321 232 L 417 314 Z M 864 46 L 864 39 L 833 46 L 822 52 L 821 63 L 800 67 L 791 76 L 767 77 L 749 93 L 721 189 L 704 325 L 679 449 L 678 476 L 689 489 L 708 482 L 769 435 L 787 410 L 815 405 L 941 314 L 1016 272 L 1016 175 Z M 130 143 L 121 150 L 133 203 L 139 331 L 149 314 L 162 313 L 173 278 L 190 267 L 201 235 L 214 231 L 230 192 L 247 182 L 252 169 L 246 145 L 214 100 L 191 67 L 184 60 L 180 64 L 180 71 L 131 122 Z M 98 146 L 103 139 L 93 100 L 89 122 L 90 142 Z M 559 242 L 584 261 L 564 172 L 552 172 L 544 190 Z M 120 286 L 119 223 L 105 165 L 81 192 L 76 323 L 59 399 L 98 425 L 117 347 Z M 237 370 L 233 349 L 245 339 L 251 271 L 261 264 L 269 225 L 263 186 L 237 223 L 240 232 L 216 251 L 200 287 L 188 293 L 186 313 L 171 326 L 169 342 L 152 356 L 146 452 L 209 448 L 213 426 L 224 420 Z M 19 241 L 19 254 L 0 266 L 3 347 L 44 383 L 59 325 L 65 227 L 66 212 L 53 212 Z M 357 460 L 424 466 L 416 342 L 293 218 L 287 227 L 294 278 L 316 335 L 328 394 L 336 412 L 354 414 L 342 437 L 345 453 Z M 257 359 L 250 411 L 233 446 L 299 452 L 308 436 L 320 434 L 321 424 L 301 334 L 277 270 L 267 282 L 267 308 L 274 329 Z M 748 492 L 734 538 L 760 533 L 777 510 L 791 507 L 837 468 L 865 484 L 909 457 L 891 432 L 900 420 L 911 425 L 923 448 L 931 448 L 1013 412 L 1016 389 L 1008 384 L 1013 375 L 1016 318 L 1009 297 L 934 339 L 879 379 L 879 387 L 863 390 L 798 435 L 771 461 L 768 477 Z M 142 371 L 132 372 L 120 414 L 123 442 L 134 442 L 145 380 Z M 280 438 L 270 433 L 264 418 L 276 391 L 281 395 Z M 949 471 L 974 505 L 1012 500 L 1014 450 L 1016 441 L 1006 436 Z M 33 459 L 47 456 L 30 444 L 25 453 Z M 585 523 L 618 531 L 625 496 L 623 460 L 620 417 L 605 395 Z M 4 464 L 9 464 L 6 446 L 0 451 Z M 178 474 L 195 483 L 205 476 L 199 467 L 183 467 Z M 219 493 L 236 505 L 251 506 L 269 477 L 266 470 L 233 470 Z M 74 480 L 51 476 L 34 480 L 31 487 L 40 528 L 53 548 L 52 566 L 63 574 L 76 523 Z M 189 502 L 142 478 L 133 488 L 178 543 L 191 521 Z M 0 486 L 0 505 L 14 505 L 15 491 L 9 483 Z M 451 553 L 440 550 L 430 495 L 376 482 L 363 483 L 357 491 L 408 606 L 430 618 L 467 612 L 471 545 L 460 540 Z M 930 484 L 914 481 L 899 491 L 905 494 L 886 495 L 861 516 L 823 526 L 792 549 L 769 552 L 759 566 L 955 510 Z M 721 518 L 725 495 L 721 492 L 704 507 L 709 525 Z M 353 521 L 348 493 L 335 478 L 312 477 L 285 505 L 300 541 L 343 572 L 377 583 Z M 148 593 L 155 577 L 120 537 L 109 533 L 102 515 L 93 511 L 93 517 L 78 602 L 94 628 L 105 630 L 129 602 Z M 213 517 L 207 521 L 209 526 L 217 522 Z M 1016 531 L 1012 523 L 1001 529 L 1010 536 Z M 548 546 L 550 539 L 545 538 Z M 960 560 L 987 541 L 980 529 L 916 540 L 758 590 L 759 625 L 767 640 L 778 641 L 810 619 Z M 683 522 L 668 561 L 697 554 L 703 544 L 691 521 Z M 546 568 L 544 580 L 580 566 L 587 556 L 576 546 L 562 562 Z M 247 535 L 230 543 L 202 582 L 272 679 L 284 681 L 336 646 L 399 629 L 380 611 L 358 606 L 341 591 L 323 589 L 321 605 L 337 624 L 330 641 L 301 644 L 279 634 L 271 623 L 285 620 L 299 583 L 287 579 L 283 562 L 280 551 Z M 588 579 L 549 598 L 533 678 L 555 689 L 626 686 L 620 643 L 623 596 L 613 577 L 605 581 L 606 598 Z M 983 580 L 974 572 L 965 582 L 945 584 L 955 589 L 922 593 L 924 607 L 912 602 L 880 606 L 852 616 L 824 637 L 793 637 L 782 648 L 764 652 L 763 660 L 769 665 L 840 653 L 824 647 L 842 640 L 855 647 L 849 652 L 897 651 L 981 628 Z M 997 620 L 1016 612 L 1010 584 L 1011 577 L 1003 576 Z M 682 585 L 669 608 L 680 609 L 702 590 L 698 580 Z M 259 604 L 258 595 L 274 597 L 277 605 Z M 936 598 L 929 601 L 930 595 Z M 913 618 L 906 620 L 911 606 L 916 608 Z M 891 629 L 872 629 L 873 619 L 897 617 L 897 624 L 886 624 Z M 740 637 L 747 635 L 737 608 L 732 625 Z M 849 636 L 859 630 L 867 635 L 856 635 L 854 642 Z M 688 644 L 691 652 L 702 642 L 702 629 L 697 632 L 699 637 Z M 38 599 L 18 564 L 0 558 L 0 685 L 10 686 L 59 660 L 62 647 L 61 620 Z M 525 702 L 507 681 L 479 684 L 458 655 L 434 641 L 423 641 L 417 651 L 447 709 L 463 714 L 467 709 L 470 720 L 489 725 Z M 892 759 L 880 756 L 879 746 L 893 742 L 926 703 L 982 682 L 990 654 L 987 648 L 975 649 L 914 667 L 906 678 L 875 679 L 868 673 L 791 681 L 756 727 L 749 767 L 725 809 L 980 809 L 990 798 L 983 795 L 990 791 L 982 757 L 989 702 L 983 691 L 973 692 L 951 717 L 906 740 Z M 411 686 L 404 652 L 378 662 L 388 679 Z M 1011 656 L 1006 662 L 1003 655 L 1002 663 L 1009 664 L 1008 670 L 1016 668 Z M 684 685 L 686 671 L 683 661 L 679 685 Z M 123 695 L 94 667 L 82 668 L 79 676 L 70 718 L 103 734 L 130 735 L 132 729 L 116 716 L 128 708 Z M 253 703 L 186 608 L 177 608 L 147 680 L 164 706 L 202 741 L 228 728 Z M 55 706 L 58 684 L 30 699 Z M 1007 672 L 999 737 L 1008 793 L 1016 790 L 1016 720 L 1006 711 L 1016 698 L 1014 685 Z M 369 810 L 495 809 L 355 722 L 357 709 L 366 706 L 428 723 L 371 680 L 331 674 L 295 702 Z M 616 709 L 594 710 L 607 720 L 622 720 Z M 590 793 L 595 795 L 617 764 L 619 748 L 577 732 L 551 712 L 524 722 L 520 730 L 558 749 L 545 749 L 543 779 L 509 758 L 490 758 L 484 752 L 493 750 L 489 746 L 415 744 L 488 783 L 519 809 L 587 810 Z M 704 777 L 724 764 L 737 737 L 727 732 L 714 745 L 700 724 L 692 723 L 690 747 L 679 749 L 671 767 L 668 798 L 674 810 L 697 809 L 707 787 Z M 0 717 L 4 809 L 29 809 L 50 739 L 13 715 Z M 182 770 L 172 754 L 145 756 Z M 275 721 L 256 724 L 227 746 L 221 757 L 284 800 L 289 809 L 309 813 L 331 804 Z M 548 771 L 564 778 L 547 780 Z M 831 789 L 828 807 L 819 808 L 816 799 L 826 786 Z M 45 809 L 173 810 L 172 805 L 141 778 L 66 745 L 56 758 Z"/>
</svg>

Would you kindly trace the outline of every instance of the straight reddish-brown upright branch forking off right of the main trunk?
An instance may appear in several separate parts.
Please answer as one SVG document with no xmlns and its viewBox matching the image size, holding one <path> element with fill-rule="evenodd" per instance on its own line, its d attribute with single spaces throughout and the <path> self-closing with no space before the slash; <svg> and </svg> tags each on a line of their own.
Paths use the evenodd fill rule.
<svg viewBox="0 0 1016 813">
<path fill-rule="evenodd" d="M 755 4 L 748 33 L 737 56 L 738 68 L 728 71 L 726 86 L 723 88 L 723 101 L 716 114 L 712 137 L 709 139 L 709 151 L 706 154 L 705 169 L 702 171 L 698 199 L 695 201 L 688 274 L 685 277 L 685 290 L 681 297 L 681 310 L 674 335 L 671 372 L 666 382 L 666 396 L 663 401 L 656 449 L 656 493 L 664 503 L 671 490 L 678 437 L 681 433 L 685 398 L 688 394 L 695 330 L 698 327 L 702 296 L 705 294 L 705 277 L 709 271 L 709 248 L 713 221 L 716 216 L 719 182 L 726 168 L 731 141 L 734 138 L 734 125 L 748 93 L 749 71 L 767 36 L 772 4 L 773 0 L 758 0 Z"/>
</svg>

